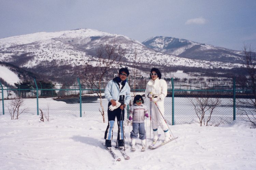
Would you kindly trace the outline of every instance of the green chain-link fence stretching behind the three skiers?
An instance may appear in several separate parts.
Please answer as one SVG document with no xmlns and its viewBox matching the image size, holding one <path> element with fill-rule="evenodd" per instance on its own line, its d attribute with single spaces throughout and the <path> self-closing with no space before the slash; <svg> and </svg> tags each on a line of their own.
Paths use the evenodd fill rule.
<svg viewBox="0 0 256 170">
<path fill-rule="evenodd" d="M 79 82 L 79 79 L 78 79 Z M 231 123 L 236 117 L 243 119 L 243 116 L 236 114 L 239 108 L 252 110 L 255 108 L 246 105 L 236 105 L 236 101 L 251 100 L 250 90 L 236 86 L 195 86 L 175 85 L 175 82 L 168 82 L 168 95 L 165 98 L 164 117 L 168 124 L 183 124 L 199 122 L 202 125 L 218 125 Z M 233 82 L 234 83 L 234 82 Z M 30 88 L 22 86 L 2 86 L 0 89 L 0 100 L 2 107 L 0 113 L 10 114 L 13 109 L 13 102 L 17 98 L 23 99 L 20 110 L 23 114 L 49 116 L 76 116 L 96 117 L 102 120 L 102 108 L 100 98 L 91 89 L 78 83 L 78 85 L 43 85 L 34 81 Z M 231 83 L 230 83 L 231 84 Z M 132 100 L 137 94 L 143 95 L 145 89 L 132 89 Z M 108 101 L 102 92 L 102 106 L 107 121 Z M 239 99 L 238 99 L 239 98 Z M 132 103 L 132 101 L 131 101 Z M 149 101 L 144 98 L 144 104 L 150 110 Z M 154 104 L 154 103 L 152 103 Z M 127 110 L 126 108 L 126 115 Z"/>
</svg>

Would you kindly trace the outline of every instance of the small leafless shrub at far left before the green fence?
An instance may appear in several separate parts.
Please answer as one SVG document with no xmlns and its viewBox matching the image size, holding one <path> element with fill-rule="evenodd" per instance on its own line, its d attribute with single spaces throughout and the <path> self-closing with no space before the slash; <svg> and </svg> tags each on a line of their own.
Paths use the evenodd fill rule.
<svg viewBox="0 0 256 170">
<path fill-rule="evenodd" d="M 10 104 L 7 106 L 8 111 L 11 115 L 11 119 L 18 119 L 19 115 L 26 112 L 27 108 L 21 108 L 24 104 L 22 98 L 15 98 L 11 100 Z"/>
</svg>

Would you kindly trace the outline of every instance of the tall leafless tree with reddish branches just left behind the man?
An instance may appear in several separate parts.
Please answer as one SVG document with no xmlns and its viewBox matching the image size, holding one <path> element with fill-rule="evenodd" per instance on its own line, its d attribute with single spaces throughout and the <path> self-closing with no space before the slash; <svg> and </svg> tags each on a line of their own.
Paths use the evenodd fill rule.
<svg viewBox="0 0 256 170">
<path fill-rule="evenodd" d="M 82 83 L 86 84 L 94 93 L 99 96 L 99 111 L 102 115 L 103 122 L 105 122 L 104 108 L 102 105 L 102 89 L 104 88 L 103 81 L 106 73 L 120 64 L 122 58 L 125 55 L 125 49 L 122 49 L 120 45 L 116 45 L 114 40 L 113 45 L 101 45 L 97 50 L 96 55 L 98 58 L 98 65 L 93 67 L 85 63 L 85 73 L 82 75 Z"/>
</svg>

